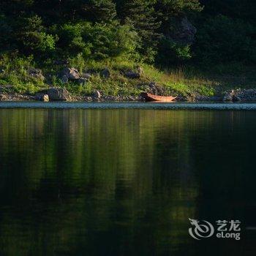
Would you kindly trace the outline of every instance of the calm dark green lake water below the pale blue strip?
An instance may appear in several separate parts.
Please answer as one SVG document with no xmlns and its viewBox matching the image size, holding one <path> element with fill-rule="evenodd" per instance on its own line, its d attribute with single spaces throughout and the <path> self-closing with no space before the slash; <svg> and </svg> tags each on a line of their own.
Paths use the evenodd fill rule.
<svg viewBox="0 0 256 256">
<path fill-rule="evenodd" d="M 255 111 L 0 109 L 0 255 L 255 255 L 255 131 Z"/>
</svg>

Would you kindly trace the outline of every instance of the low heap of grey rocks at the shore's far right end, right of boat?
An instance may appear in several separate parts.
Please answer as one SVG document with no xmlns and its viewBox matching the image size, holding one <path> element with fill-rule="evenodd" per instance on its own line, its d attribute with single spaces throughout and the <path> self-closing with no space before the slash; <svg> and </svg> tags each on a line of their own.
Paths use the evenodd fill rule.
<svg viewBox="0 0 256 256">
<path fill-rule="evenodd" d="M 256 89 L 238 89 L 226 91 L 224 102 L 256 102 Z"/>
</svg>

